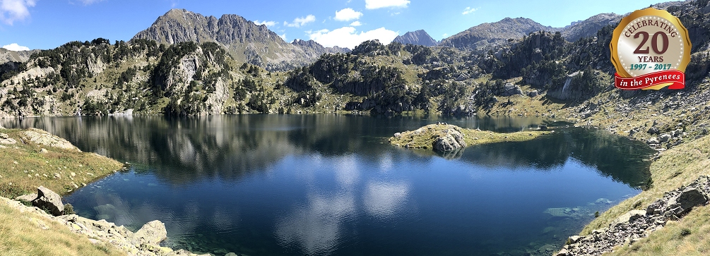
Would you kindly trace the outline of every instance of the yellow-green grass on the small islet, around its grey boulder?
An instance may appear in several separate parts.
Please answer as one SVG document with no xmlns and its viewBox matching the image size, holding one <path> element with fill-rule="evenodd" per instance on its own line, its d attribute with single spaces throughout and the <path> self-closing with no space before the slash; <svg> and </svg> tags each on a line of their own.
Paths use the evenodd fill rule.
<svg viewBox="0 0 710 256">
<path fill-rule="evenodd" d="M 456 129 L 464 134 L 466 146 L 481 145 L 488 143 L 501 143 L 506 141 L 532 140 L 540 135 L 551 133 L 548 131 L 523 131 L 515 133 L 494 133 L 489 130 L 471 130 L 452 125 L 431 124 L 417 130 L 408 130 L 399 137 L 389 139 L 392 145 L 406 148 L 423 148 L 433 150 L 433 143 L 437 138 L 446 135 L 447 130 Z"/>
</svg>

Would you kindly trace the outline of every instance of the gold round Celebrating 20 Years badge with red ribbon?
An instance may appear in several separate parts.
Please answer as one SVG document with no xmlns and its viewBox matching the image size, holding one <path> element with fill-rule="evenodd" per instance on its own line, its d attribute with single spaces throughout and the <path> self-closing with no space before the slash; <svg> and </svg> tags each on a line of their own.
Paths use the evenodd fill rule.
<svg viewBox="0 0 710 256">
<path fill-rule="evenodd" d="M 684 84 L 684 74 L 682 82 L 678 76 L 690 62 L 691 47 L 688 30 L 675 16 L 652 8 L 634 11 L 621 19 L 609 45 L 617 87 L 660 89 Z M 635 77 L 643 79 L 631 79 Z"/>
</svg>

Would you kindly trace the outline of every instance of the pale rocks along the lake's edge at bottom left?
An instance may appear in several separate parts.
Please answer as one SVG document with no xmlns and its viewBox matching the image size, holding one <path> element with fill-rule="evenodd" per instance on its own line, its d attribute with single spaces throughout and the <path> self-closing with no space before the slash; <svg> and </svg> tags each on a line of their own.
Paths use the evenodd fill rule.
<svg viewBox="0 0 710 256">
<path fill-rule="evenodd" d="M 21 212 L 31 212 L 37 214 L 38 218 L 33 218 L 33 223 L 43 229 L 48 229 L 46 221 L 55 221 L 69 230 L 80 235 L 85 235 L 92 243 L 101 243 L 104 245 L 115 246 L 126 252 L 127 255 L 135 256 L 174 256 L 174 255 L 190 255 L 197 256 L 186 250 L 173 250 L 169 247 L 161 247 L 160 241 L 165 240 L 166 232 L 165 225 L 160 221 L 151 221 L 146 223 L 136 233 L 131 232 L 124 226 L 116 226 L 114 223 L 105 220 L 94 221 L 88 218 L 83 218 L 75 214 L 64 216 L 52 216 L 45 213 L 40 208 L 34 206 L 25 206 L 19 201 L 6 199 L 0 196 L 0 204 L 6 204 L 10 208 L 15 208 Z M 39 218 L 43 218 L 40 220 Z M 202 256 L 207 256 L 205 254 Z"/>
</svg>

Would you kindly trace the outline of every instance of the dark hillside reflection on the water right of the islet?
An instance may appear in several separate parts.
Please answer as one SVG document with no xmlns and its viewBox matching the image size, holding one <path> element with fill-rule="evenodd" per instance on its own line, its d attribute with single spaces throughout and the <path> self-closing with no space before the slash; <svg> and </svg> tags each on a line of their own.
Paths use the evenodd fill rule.
<svg viewBox="0 0 710 256">
<path fill-rule="evenodd" d="M 544 141 L 479 145 L 466 148 L 461 160 L 489 167 L 550 170 L 573 157 L 632 187 L 645 186 L 650 177 L 650 162 L 643 160 L 648 160 L 653 150 L 627 138 L 590 128 L 567 128 L 547 135 Z"/>
</svg>

